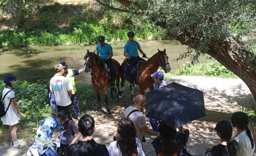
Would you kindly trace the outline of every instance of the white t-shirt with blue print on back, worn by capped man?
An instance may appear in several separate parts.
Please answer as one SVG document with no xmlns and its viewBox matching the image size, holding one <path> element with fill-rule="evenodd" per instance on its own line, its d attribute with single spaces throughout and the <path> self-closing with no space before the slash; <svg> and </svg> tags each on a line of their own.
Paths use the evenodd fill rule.
<svg viewBox="0 0 256 156">
<path fill-rule="evenodd" d="M 55 76 L 50 80 L 50 90 L 54 91 L 55 101 L 59 106 L 68 106 L 71 104 L 68 91 L 73 89 L 73 86 L 68 78 L 64 76 Z"/>
</svg>

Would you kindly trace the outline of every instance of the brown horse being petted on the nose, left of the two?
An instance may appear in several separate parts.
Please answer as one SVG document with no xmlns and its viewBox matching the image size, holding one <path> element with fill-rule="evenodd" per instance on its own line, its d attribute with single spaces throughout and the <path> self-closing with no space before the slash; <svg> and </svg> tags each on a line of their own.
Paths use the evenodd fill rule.
<svg viewBox="0 0 256 156">
<path fill-rule="evenodd" d="M 89 52 L 89 50 L 87 49 L 87 54 L 84 56 L 83 59 L 85 60 L 84 71 L 88 72 L 89 70 L 92 70 L 92 84 L 98 99 L 98 110 L 97 110 L 98 114 L 101 113 L 101 109 L 102 109 L 102 106 L 100 103 L 100 92 L 99 92 L 99 90 L 102 89 L 105 94 L 105 103 L 107 105 L 108 117 L 111 117 L 112 115 L 109 109 L 108 88 L 107 88 L 107 86 L 110 85 L 111 81 L 107 76 L 106 69 L 104 68 L 105 64 L 101 61 L 100 57 L 95 54 L 95 50 L 94 52 Z M 112 59 L 112 62 L 120 72 L 120 68 L 121 68 L 120 63 L 118 63 L 114 59 Z M 116 80 L 116 86 L 118 88 L 118 92 L 121 95 L 121 92 L 119 90 L 120 76 L 117 76 L 115 80 Z M 117 94 L 116 88 L 110 88 L 110 94 L 111 94 L 110 98 L 113 98 L 113 91 Z"/>
</svg>

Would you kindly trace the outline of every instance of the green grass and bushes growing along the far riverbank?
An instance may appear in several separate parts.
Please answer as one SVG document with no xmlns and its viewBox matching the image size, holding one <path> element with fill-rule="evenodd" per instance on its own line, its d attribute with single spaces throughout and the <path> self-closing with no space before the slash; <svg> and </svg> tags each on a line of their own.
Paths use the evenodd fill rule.
<svg viewBox="0 0 256 156">
<path fill-rule="evenodd" d="M 38 9 L 34 15 L 38 21 L 17 30 L 0 30 L 0 46 L 88 45 L 97 43 L 97 37 L 101 35 L 112 44 L 126 42 L 129 31 L 134 31 L 135 40 L 138 41 L 147 40 L 148 37 L 169 39 L 163 28 L 127 13 L 105 9 L 104 14 L 98 16 L 90 7 L 84 6 L 81 15 L 73 16 L 65 5 L 59 3 L 34 8 Z M 71 16 L 68 29 L 57 25 L 57 16 Z"/>
</svg>

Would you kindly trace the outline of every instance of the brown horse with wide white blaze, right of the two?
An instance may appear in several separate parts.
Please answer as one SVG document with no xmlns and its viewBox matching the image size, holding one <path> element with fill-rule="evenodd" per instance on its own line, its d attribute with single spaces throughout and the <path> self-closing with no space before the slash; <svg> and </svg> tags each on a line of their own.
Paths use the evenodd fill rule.
<svg viewBox="0 0 256 156">
<path fill-rule="evenodd" d="M 121 65 L 121 69 L 123 70 L 125 65 L 127 64 L 126 59 L 123 60 L 123 63 Z M 145 95 L 145 89 L 149 88 L 152 90 L 154 88 L 154 79 L 151 78 L 150 74 L 153 74 L 157 71 L 157 69 L 161 67 L 165 73 L 168 73 L 171 71 L 170 64 L 168 62 L 168 56 L 166 55 L 165 49 L 163 51 L 160 51 L 158 49 L 158 52 L 150 57 L 147 61 L 141 62 L 140 69 L 138 73 L 138 79 L 135 81 L 135 84 L 139 85 L 140 88 L 140 94 Z M 121 94 L 123 94 L 123 86 L 125 80 L 130 82 L 129 78 L 121 77 Z M 133 88 L 130 86 L 132 99 L 134 100 L 134 93 Z"/>
</svg>

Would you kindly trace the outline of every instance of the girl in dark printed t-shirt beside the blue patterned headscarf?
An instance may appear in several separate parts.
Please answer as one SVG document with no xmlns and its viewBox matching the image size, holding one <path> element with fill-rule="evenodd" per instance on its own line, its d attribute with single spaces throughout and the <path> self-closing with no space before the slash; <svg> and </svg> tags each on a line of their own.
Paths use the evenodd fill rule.
<svg viewBox="0 0 256 156">
<path fill-rule="evenodd" d="M 67 156 L 69 146 L 75 143 L 82 134 L 78 131 L 78 127 L 73 122 L 69 112 L 61 110 L 56 117 L 60 122 L 60 133 L 64 131 L 60 135 L 60 147 L 58 147 L 57 152 L 59 156 L 62 156 L 63 152 L 64 156 Z M 74 137 L 75 134 L 77 134 L 76 137 Z"/>
</svg>

